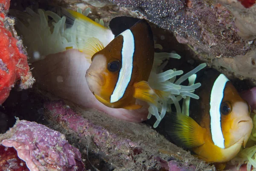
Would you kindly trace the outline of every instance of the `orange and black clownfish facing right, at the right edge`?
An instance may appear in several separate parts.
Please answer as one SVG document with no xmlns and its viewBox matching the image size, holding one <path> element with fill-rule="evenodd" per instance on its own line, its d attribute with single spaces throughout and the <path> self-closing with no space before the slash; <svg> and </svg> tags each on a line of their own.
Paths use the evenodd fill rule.
<svg viewBox="0 0 256 171">
<path fill-rule="evenodd" d="M 250 105 L 228 78 L 207 69 L 192 75 L 189 84 L 200 99 L 184 99 L 182 113 L 170 113 L 166 133 L 176 145 L 206 162 L 225 163 L 245 147 L 253 128 Z"/>
</svg>

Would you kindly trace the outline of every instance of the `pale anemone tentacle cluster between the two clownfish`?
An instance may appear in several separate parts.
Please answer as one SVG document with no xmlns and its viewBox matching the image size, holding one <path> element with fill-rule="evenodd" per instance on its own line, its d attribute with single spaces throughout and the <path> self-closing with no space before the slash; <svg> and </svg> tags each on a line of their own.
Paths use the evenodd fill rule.
<svg viewBox="0 0 256 171">
<path fill-rule="evenodd" d="M 153 69 L 150 73 L 148 83 L 152 88 L 156 90 L 162 90 L 171 93 L 171 95 L 169 96 L 171 100 L 165 101 L 160 99 L 157 102 L 157 106 L 155 106 L 154 104 L 149 104 L 150 107 L 148 109 L 148 119 L 150 119 L 152 115 L 154 115 L 157 119 L 157 121 L 154 123 L 154 128 L 156 128 L 159 125 L 160 121 L 163 119 L 166 112 L 171 111 L 171 104 L 174 104 L 176 112 L 181 114 L 181 107 L 179 104 L 179 101 L 181 99 L 185 99 L 186 97 L 199 99 L 199 96 L 195 95 L 193 92 L 195 91 L 196 88 L 201 86 L 200 83 L 188 86 L 183 86 L 180 84 L 183 81 L 187 80 L 190 76 L 198 72 L 199 70 L 206 67 L 206 64 L 200 64 L 194 70 L 186 73 L 185 75 L 177 79 L 177 81 L 175 81 L 176 76 L 182 75 L 183 71 L 167 70 L 163 72 L 163 68 L 167 64 L 163 63 L 163 60 L 166 58 L 180 59 L 180 55 L 176 54 L 175 52 L 155 53 L 154 55 Z"/>
</svg>

